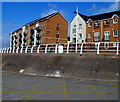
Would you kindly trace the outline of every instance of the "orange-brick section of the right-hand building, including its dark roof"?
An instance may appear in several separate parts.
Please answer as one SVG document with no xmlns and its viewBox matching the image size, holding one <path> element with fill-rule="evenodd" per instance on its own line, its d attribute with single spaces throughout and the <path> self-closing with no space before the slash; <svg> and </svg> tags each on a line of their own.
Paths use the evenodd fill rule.
<svg viewBox="0 0 120 102">
<path fill-rule="evenodd" d="M 86 42 L 120 42 L 120 11 L 89 16 Z"/>
</svg>

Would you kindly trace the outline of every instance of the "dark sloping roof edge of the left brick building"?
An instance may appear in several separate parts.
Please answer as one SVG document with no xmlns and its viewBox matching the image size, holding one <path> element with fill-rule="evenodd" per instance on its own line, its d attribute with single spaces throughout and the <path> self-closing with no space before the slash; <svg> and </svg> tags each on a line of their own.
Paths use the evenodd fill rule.
<svg viewBox="0 0 120 102">
<path fill-rule="evenodd" d="M 39 18 L 39 19 L 36 19 L 36 20 L 34 20 L 34 21 L 31 21 L 31 22 L 29 22 L 29 23 L 27 23 L 27 24 L 25 24 L 25 25 L 23 25 L 23 26 L 32 25 L 32 24 L 34 24 L 34 23 L 36 23 L 36 22 L 45 21 L 45 20 L 47 20 L 47 19 L 49 19 L 49 18 L 51 18 L 51 17 L 57 15 L 58 13 L 59 13 L 59 12 L 52 13 L 52 14 L 46 16 L 46 17 Z M 18 30 L 20 30 L 20 29 L 22 29 L 22 28 L 19 28 L 19 29 L 17 29 L 16 31 L 18 31 Z M 16 32 L 16 31 L 14 31 L 14 32 Z M 13 34 L 14 32 L 12 32 L 12 34 Z"/>
</svg>

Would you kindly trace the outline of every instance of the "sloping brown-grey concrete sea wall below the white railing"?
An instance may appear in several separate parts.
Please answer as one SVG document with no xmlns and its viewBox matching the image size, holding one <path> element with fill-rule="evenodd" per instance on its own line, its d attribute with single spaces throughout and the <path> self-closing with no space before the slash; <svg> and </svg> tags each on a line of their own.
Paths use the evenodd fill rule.
<svg viewBox="0 0 120 102">
<path fill-rule="evenodd" d="M 2 54 L 2 70 L 27 75 L 118 80 L 120 56 Z"/>
</svg>

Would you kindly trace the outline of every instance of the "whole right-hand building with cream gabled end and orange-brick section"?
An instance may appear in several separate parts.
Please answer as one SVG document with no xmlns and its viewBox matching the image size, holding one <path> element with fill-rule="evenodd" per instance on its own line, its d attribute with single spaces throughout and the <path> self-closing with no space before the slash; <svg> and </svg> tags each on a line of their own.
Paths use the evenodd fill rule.
<svg viewBox="0 0 120 102">
<path fill-rule="evenodd" d="M 78 12 L 70 24 L 70 41 L 120 42 L 120 11 L 86 16 Z M 76 37 L 77 35 L 77 37 Z M 107 43 L 106 43 L 107 44 Z"/>
</svg>

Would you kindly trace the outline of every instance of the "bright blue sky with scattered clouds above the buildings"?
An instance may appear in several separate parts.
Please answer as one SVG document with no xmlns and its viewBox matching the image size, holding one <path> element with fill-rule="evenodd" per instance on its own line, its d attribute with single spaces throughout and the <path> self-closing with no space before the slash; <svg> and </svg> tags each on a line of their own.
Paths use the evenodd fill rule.
<svg viewBox="0 0 120 102">
<path fill-rule="evenodd" d="M 35 19 L 45 17 L 54 12 L 61 14 L 70 23 L 73 13 L 95 15 L 118 10 L 117 2 L 2 2 L 2 47 L 9 47 L 10 33 Z M 69 28 L 69 27 L 68 27 Z M 69 36 L 68 31 L 68 36 Z M 0 46 L 1 48 L 1 46 Z"/>
</svg>

